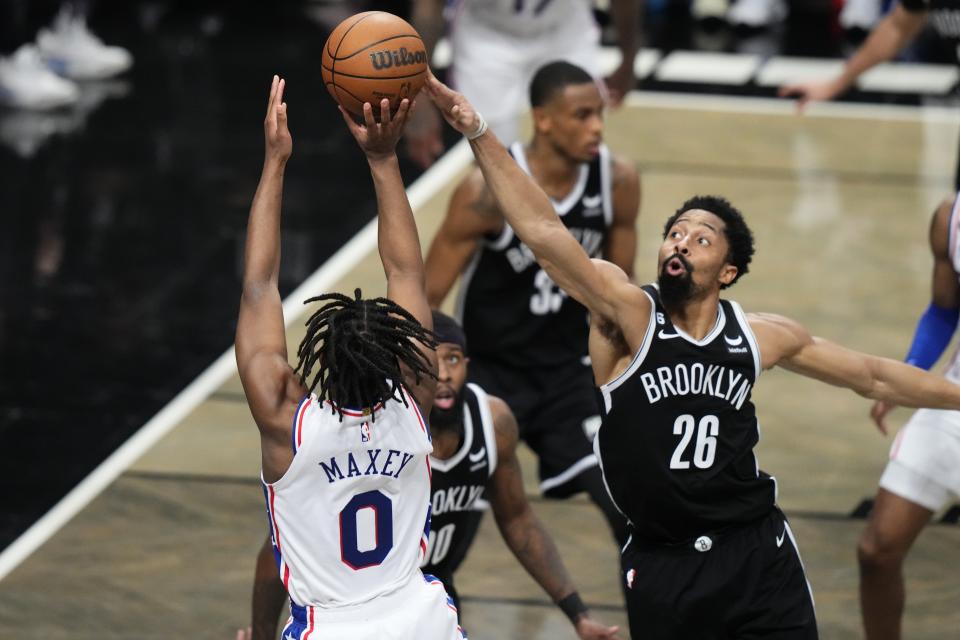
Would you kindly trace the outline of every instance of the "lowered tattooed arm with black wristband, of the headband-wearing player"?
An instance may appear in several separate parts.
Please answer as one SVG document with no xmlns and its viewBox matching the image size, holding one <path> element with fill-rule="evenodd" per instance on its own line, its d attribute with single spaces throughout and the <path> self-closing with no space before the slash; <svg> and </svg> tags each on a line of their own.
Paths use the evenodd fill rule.
<svg viewBox="0 0 960 640">
<path fill-rule="evenodd" d="M 488 496 L 504 542 L 563 610 L 580 638 L 616 638 L 617 627 L 607 627 L 590 617 L 553 538 L 530 508 L 516 455 L 518 427 L 513 413 L 503 400 L 493 397 L 490 410 L 497 438 L 497 468 L 488 485 Z"/>
</svg>

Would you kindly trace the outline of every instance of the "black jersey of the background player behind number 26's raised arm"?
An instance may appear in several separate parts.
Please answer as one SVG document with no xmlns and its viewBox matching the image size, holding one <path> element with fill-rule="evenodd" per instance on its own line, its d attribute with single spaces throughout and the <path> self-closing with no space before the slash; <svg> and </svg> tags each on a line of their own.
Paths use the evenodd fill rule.
<svg viewBox="0 0 960 640">
<path fill-rule="evenodd" d="M 523 146 L 510 153 L 530 173 Z M 591 257 L 600 257 L 613 220 L 610 153 L 580 166 L 569 195 L 553 202 L 557 215 Z M 540 268 L 509 224 L 488 238 L 464 272 L 457 317 L 470 355 L 512 367 L 576 362 L 587 353 L 587 310 Z"/>
</svg>

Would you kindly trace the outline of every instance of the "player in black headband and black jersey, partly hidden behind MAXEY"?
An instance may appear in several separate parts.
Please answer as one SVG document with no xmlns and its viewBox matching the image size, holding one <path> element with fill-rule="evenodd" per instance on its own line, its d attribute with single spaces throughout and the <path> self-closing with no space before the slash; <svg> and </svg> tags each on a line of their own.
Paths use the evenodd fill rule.
<svg viewBox="0 0 960 640">
<path fill-rule="evenodd" d="M 462 619 L 453 576 L 476 536 L 482 513 L 476 502 L 486 490 L 484 495 L 504 542 L 570 618 L 577 635 L 583 640 L 616 638 L 617 627 L 607 627 L 590 616 L 553 538 L 527 501 L 516 457 L 517 421 L 513 413 L 500 398 L 487 395 L 475 384 L 466 384 L 467 341 L 456 321 L 434 311 L 433 330 L 439 343 L 439 371 L 430 411 L 430 534 L 421 570 L 443 582 Z M 252 640 L 275 637 L 286 602 L 268 536 L 257 557 Z"/>
</svg>

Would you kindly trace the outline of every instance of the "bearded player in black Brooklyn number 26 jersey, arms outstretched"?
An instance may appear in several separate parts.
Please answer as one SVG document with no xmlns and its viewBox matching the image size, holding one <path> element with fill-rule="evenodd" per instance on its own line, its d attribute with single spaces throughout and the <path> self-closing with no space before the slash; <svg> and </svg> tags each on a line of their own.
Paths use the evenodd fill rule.
<svg viewBox="0 0 960 640">
<path fill-rule="evenodd" d="M 775 365 L 912 407 L 960 408 L 960 386 L 745 314 L 720 291 L 749 267 L 753 237 L 716 197 L 664 227 L 659 287 L 591 260 L 483 118 L 432 76 L 427 94 L 474 155 L 510 225 L 553 280 L 590 310 L 604 419 L 594 447 L 630 521 L 622 556 L 635 638 L 817 637 L 813 599 L 774 480 L 757 466 L 751 392 Z"/>
</svg>

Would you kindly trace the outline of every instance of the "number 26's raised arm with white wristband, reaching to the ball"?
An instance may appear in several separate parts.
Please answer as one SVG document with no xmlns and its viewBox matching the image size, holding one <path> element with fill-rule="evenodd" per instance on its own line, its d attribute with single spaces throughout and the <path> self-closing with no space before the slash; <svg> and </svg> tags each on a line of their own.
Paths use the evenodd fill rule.
<svg viewBox="0 0 960 640">
<path fill-rule="evenodd" d="M 498 208 L 551 279 L 594 313 L 617 318 L 620 282 L 605 278 L 591 262 L 557 217 L 543 189 L 514 162 L 473 106 L 432 75 L 424 90 L 447 122 L 470 139 Z"/>
</svg>

